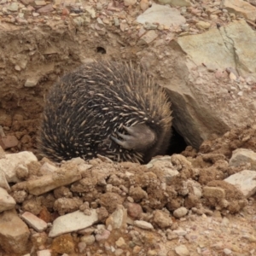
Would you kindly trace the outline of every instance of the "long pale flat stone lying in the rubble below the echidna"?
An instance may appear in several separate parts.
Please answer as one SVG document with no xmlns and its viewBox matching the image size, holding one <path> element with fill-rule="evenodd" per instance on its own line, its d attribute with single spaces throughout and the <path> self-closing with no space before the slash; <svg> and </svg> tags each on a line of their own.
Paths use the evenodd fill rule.
<svg viewBox="0 0 256 256">
<path fill-rule="evenodd" d="M 55 219 L 52 229 L 49 231 L 49 237 L 83 230 L 95 224 L 97 221 L 98 215 L 95 209 L 90 210 L 90 215 L 85 215 L 84 212 L 80 211 L 68 213 Z"/>
</svg>

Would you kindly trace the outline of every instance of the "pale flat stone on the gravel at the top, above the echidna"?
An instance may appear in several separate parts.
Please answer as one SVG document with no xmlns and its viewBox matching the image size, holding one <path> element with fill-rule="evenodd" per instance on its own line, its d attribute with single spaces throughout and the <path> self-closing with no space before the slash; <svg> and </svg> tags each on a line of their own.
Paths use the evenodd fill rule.
<svg viewBox="0 0 256 256">
<path fill-rule="evenodd" d="M 185 18 L 180 15 L 180 12 L 171 8 L 168 5 L 152 4 L 151 8 L 148 8 L 142 15 L 137 17 L 137 22 L 145 24 L 159 23 L 164 26 L 180 26 L 185 24 Z"/>
</svg>

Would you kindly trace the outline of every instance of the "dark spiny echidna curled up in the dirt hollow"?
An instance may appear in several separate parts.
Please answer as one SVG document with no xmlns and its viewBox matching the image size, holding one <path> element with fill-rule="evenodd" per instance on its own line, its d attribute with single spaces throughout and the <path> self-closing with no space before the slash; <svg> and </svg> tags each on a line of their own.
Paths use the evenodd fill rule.
<svg viewBox="0 0 256 256">
<path fill-rule="evenodd" d="M 93 61 L 67 73 L 49 91 L 38 149 L 54 161 L 102 154 L 146 163 L 168 147 L 170 105 L 142 67 Z"/>
</svg>

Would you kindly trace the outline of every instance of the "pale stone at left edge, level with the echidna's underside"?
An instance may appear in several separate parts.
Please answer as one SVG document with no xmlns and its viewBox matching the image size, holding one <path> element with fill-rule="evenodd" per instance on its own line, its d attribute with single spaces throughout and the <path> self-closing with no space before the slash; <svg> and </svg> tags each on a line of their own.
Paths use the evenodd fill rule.
<svg viewBox="0 0 256 256">
<path fill-rule="evenodd" d="M 32 161 L 37 161 L 37 157 L 32 152 L 23 151 L 16 154 L 6 154 L 5 158 L 0 159 L 0 170 L 5 173 L 5 177 L 9 183 L 20 182 L 16 177 L 15 167 L 19 164 L 28 165 Z"/>
</svg>

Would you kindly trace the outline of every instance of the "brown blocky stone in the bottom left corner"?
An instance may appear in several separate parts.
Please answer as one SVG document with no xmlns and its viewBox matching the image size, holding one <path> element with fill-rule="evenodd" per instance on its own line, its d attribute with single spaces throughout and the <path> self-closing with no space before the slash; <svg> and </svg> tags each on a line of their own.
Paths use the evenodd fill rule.
<svg viewBox="0 0 256 256">
<path fill-rule="evenodd" d="M 15 210 L 0 214 L 0 227 L 0 247 L 7 255 L 26 253 L 30 231 Z"/>
</svg>

